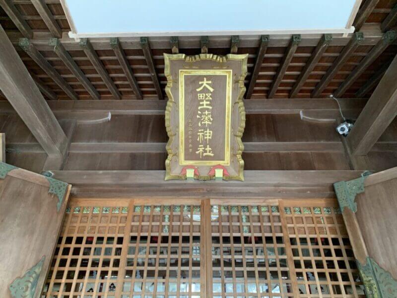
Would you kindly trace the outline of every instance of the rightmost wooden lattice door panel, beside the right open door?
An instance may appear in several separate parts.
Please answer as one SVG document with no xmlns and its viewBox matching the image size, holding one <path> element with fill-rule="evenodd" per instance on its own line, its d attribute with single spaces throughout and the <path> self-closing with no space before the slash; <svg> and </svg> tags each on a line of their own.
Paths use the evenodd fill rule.
<svg viewBox="0 0 397 298">
<path fill-rule="evenodd" d="M 337 204 L 284 202 L 300 297 L 365 297 Z"/>
</svg>

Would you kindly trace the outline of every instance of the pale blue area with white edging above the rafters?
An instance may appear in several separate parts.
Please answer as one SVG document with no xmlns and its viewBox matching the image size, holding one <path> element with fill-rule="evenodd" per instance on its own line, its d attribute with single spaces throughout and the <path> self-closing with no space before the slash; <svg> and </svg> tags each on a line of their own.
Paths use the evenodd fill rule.
<svg viewBox="0 0 397 298">
<path fill-rule="evenodd" d="M 66 0 L 77 33 L 345 28 L 355 0 Z"/>
</svg>

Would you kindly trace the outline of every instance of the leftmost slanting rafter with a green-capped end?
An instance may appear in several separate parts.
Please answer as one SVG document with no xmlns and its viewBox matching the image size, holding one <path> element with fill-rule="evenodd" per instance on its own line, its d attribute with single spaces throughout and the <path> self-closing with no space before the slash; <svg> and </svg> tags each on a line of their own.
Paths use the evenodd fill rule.
<svg viewBox="0 0 397 298">
<path fill-rule="evenodd" d="M 36 62 L 41 69 L 48 74 L 57 84 L 65 91 L 66 95 L 73 100 L 77 100 L 76 92 L 69 86 L 66 80 L 59 74 L 54 67 L 40 54 L 40 52 L 31 44 L 29 39 L 21 38 L 19 47 L 22 48 Z"/>
</svg>

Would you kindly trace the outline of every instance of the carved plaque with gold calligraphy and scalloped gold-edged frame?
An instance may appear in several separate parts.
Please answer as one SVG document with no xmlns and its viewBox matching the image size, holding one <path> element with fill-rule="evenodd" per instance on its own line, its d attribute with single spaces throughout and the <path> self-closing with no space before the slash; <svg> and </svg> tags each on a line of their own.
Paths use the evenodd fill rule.
<svg viewBox="0 0 397 298">
<path fill-rule="evenodd" d="M 248 55 L 164 54 L 166 180 L 244 180 Z"/>
</svg>

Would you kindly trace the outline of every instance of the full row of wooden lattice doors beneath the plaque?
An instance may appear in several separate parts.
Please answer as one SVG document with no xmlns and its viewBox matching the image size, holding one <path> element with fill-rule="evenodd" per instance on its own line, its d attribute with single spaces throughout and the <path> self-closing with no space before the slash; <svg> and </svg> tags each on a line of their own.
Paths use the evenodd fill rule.
<svg viewBox="0 0 397 298">
<path fill-rule="evenodd" d="M 365 297 L 329 200 L 73 200 L 52 265 L 42 297 Z"/>
</svg>

